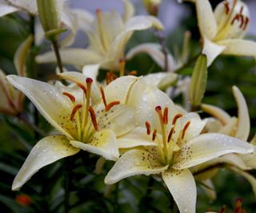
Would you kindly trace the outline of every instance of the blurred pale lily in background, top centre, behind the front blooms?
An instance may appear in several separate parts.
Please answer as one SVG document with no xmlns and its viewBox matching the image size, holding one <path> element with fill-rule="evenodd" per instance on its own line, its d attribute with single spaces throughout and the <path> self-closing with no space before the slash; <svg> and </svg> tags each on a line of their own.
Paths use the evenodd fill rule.
<svg viewBox="0 0 256 213">
<path fill-rule="evenodd" d="M 135 30 L 146 30 L 152 26 L 162 29 L 162 23 L 153 16 L 134 16 L 132 4 L 125 3 L 123 17 L 116 11 L 96 11 L 96 17 L 86 34 L 90 40 L 87 49 L 61 49 L 62 61 L 82 68 L 84 65 L 98 65 L 104 69 L 118 70 L 119 61 L 124 57 L 126 43 Z M 54 53 L 48 52 L 37 57 L 39 63 L 54 62 Z"/>
</svg>

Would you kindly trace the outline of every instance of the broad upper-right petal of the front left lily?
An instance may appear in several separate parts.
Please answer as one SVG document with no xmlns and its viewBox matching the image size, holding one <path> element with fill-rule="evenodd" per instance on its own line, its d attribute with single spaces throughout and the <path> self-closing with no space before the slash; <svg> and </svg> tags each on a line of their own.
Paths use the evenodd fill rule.
<svg viewBox="0 0 256 213">
<path fill-rule="evenodd" d="M 130 89 L 136 81 L 138 81 L 138 78 L 133 76 L 118 77 L 109 85 L 106 85 L 104 88 L 106 102 L 120 101 L 122 104 L 126 104 Z"/>
</svg>

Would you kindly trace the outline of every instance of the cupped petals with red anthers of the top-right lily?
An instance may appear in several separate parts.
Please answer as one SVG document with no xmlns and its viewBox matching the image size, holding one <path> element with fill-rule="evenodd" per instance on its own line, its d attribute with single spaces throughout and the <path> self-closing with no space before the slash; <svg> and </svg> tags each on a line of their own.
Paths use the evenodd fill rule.
<svg viewBox="0 0 256 213">
<path fill-rule="evenodd" d="M 216 40 L 241 38 L 246 34 L 250 14 L 246 4 L 240 0 L 226 0 L 214 10 L 218 24 Z"/>
</svg>

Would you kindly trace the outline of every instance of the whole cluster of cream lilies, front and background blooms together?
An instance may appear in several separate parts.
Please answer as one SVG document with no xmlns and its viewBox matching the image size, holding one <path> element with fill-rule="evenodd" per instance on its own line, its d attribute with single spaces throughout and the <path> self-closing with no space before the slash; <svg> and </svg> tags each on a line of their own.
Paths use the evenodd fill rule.
<svg viewBox="0 0 256 213">
<path fill-rule="evenodd" d="M 144 16 L 134 16 L 134 6 L 128 0 L 122 1 L 122 16 L 102 10 L 94 16 L 88 11 L 69 9 L 65 1 L 57 2 L 59 27 L 70 31 L 62 40 L 59 57 L 81 72 L 58 73 L 59 81 L 54 84 L 26 77 L 31 39 L 39 45 L 47 34 L 39 22 L 36 37 L 28 37 L 15 54 L 18 75 L 6 77 L 1 71 L 4 101 L 0 111 L 13 116 L 21 113 L 25 94 L 58 132 L 43 137 L 31 149 L 12 190 L 19 190 L 40 168 L 86 151 L 114 161 L 105 177 L 106 184 L 138 175 L 162 179 L 181 213 L 196 211 L 196 181 L 203 183 L 210 198 L 216 197 L 210 188 L 214 188 L 211 179 L 219 168 L 244 176 L 256 195 L 256 179 L 247 172 L 256 168 L 256 140 L 254 137 L 248 141 L 250 116 L 241 91 L 233 87 L 237 117 L 217 106 L 202 104 L 207 67 L 219 54 L 256 55 L 256 43 L 242 39 L 250 23 L 244 2 L 224 1 L 213 11 L 208 0 L 190 0 L 196 7 L 202 37 L 202 55 L 194 67 L 191 84 L 190 77 L 182 79 L 175 73 L 188 62 L 188 32 L 176 58 L 165 53 L 162 45 L 153 43 L 135 46 L 126 53 L 126 44 L 135 30 L 163 30 L 155 17 L 161 1 L 144 1 L 151 14 Z M 39 12 L 40 16 L 37 8 L 35 1 L 5 0 L 0 5 L 1 15 L 22 10 L 33 16 Z M 86 49 L 67 47 L 78 30 L 85 31 L 89 38 Z M 166 72 L 142 77 L 126 72 L 125 61 L 138 53 L 150 54 Z M 36 61 L 56 62 L 55 54 L 43 53 Z M 106 81 L 99 82 L 102 69 L 110 72 L 106 73 Z M 171 100 L 170 93 L 184 94 L 184 108 Z M 193 105 L 195 97 L 197 104 Z M 210 116 L 202 119 L 194 107 Z"/>
</svg>

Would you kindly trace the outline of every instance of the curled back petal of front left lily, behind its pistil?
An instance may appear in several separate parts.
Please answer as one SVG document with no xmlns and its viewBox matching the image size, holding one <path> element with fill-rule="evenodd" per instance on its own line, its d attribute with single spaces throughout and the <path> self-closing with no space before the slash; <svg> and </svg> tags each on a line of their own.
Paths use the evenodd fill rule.
<svg viewBox="0 0 256 213">
<path fill-rule="evenodd" d="M 79 83 L 82 84 L 86 87 L 86 78 L 88 76 L 78 73 L 78 72 L 65 72 L 65 73 L 60 73 L 58 74 L 62 79 L 70 80 L 74 83 Z M 97 104 L 98 101 L 100 101 L 101 98 L 101 93 L 98 87 L 98 82 L 94 81 L 92 86 L 91 86 L 91 99 L 93 101 L 93 104 Z"/>
</svg>

